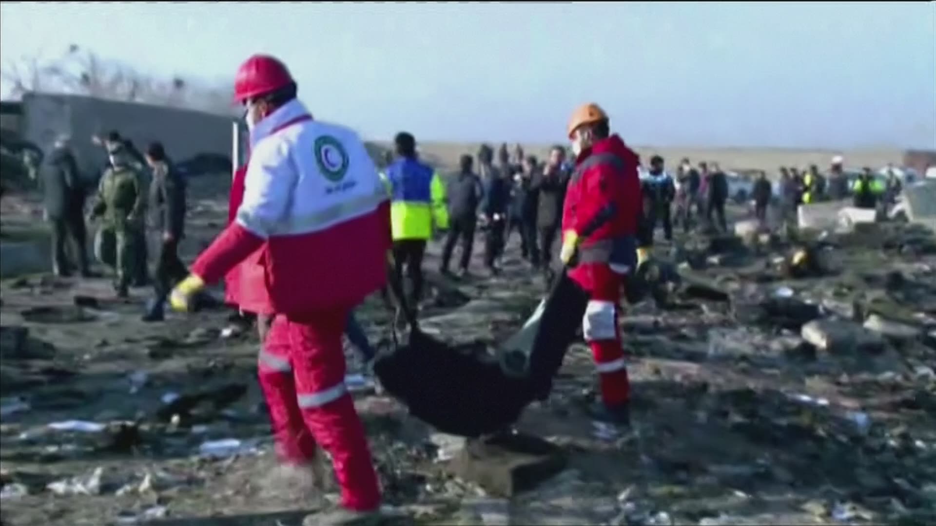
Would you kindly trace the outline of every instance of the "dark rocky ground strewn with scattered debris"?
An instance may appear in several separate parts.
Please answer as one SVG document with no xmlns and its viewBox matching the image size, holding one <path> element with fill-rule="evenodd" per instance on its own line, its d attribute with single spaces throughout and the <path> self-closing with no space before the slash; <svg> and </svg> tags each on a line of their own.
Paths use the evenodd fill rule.
<svg viewBox="0 0 936 526">
<path fill-rule="evenodd" d="M 188 256 L 223 221 L 219 202 L 194 199 Z M 9 208 L 5 197 L 5 228 L 11 214 L 23 223 L 33 213 L 21 204 Z M 868 226 L 742 241 L 694 234 L 657 247 L 662 260 L 686 264 L 664 303 L 632 305 L 622 319 L 632 429 L 585 416 L 591 357 L 583 343 L 571 348 L 552 396 L 518 425 L 567 460 L 534 489 L 505 497 L 453 475 L 462 441 L 407 416 L 367 378 L 349 378 L 399 520 L 936 521 L 932 235 Z M 544 287 L 517 244 L 496 278 L 431 272 L 427 330 L 493 343 L 517 329 Z M 791 264 L 804 246 L 806 262 Z M 114 300 L 106 278 L 48 274 L 0 285 L 3 523 L 296 525 L 333 500 L 271 495 L 264 485 L 273 459 L 256 336 L 223 332 L 222 309 L 143 324 L 148 292 Z M 386 343 L 379 300 L 360 319 L 373 342 Z M 348 357 L 351 373 L 362 373 L 350 349 Z"/>
</svg>

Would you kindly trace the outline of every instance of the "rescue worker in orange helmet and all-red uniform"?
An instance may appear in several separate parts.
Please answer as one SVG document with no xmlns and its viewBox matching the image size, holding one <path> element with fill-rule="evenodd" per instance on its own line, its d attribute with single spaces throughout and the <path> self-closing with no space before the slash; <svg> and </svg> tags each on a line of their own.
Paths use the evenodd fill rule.
<svg viewBox="0 0 936 526">
<path fill-rule="evenodd" d="M 568 125 L 576 168 L 563 204 L 563 263 L 576 257 L 569 277 L 589 293 L 582 332 L 592 349 L 601 403 L 596 418 L 628 424 L 630 385 L 618 326 L 624 278 L 636 270 L 636 229 L 642 197 L 639 159 L 618 135 L 611 135 L 607 113 L 596 104 L 578 108 Z M 587 238 L 579 232 L 596 217 L 607 221 Z"/>
</svg>

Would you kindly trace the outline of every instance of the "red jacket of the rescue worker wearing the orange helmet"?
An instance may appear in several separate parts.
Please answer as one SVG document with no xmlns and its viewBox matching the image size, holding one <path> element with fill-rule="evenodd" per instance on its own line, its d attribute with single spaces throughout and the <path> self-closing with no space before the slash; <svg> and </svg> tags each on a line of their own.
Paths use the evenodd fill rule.
<svg viewBox="0 0 936 526">
<path fill-rule="evenodd" d="M 639 158 L 622 139 L 612 135 L 578 155 L 563 204 L 563 233 L 579 235 L 600 212 L 613 207 L 609 219 L 579 245 L 579 264 L 570 276 L 586 289 L 594 286 L 595 266 L 614 268 L 621 252 L 633 251 L 642 206 Z M 627 256 L 631 256 L 627 254 Z M 628 265 L 633 264 L 628 262 Z"/>
</svg>

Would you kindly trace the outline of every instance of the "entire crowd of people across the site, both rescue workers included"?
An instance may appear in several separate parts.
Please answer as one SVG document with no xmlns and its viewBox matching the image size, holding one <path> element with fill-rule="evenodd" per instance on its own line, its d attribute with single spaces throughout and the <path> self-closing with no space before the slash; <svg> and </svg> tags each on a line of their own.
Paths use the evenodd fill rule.
<svg viewBox="0 0 936 526">
<path fill-rule="evenodd" d="M 557 145 L 541 163 L 519 146 L 511 155 L 503 144 L 495 163 L 493 149 L 482 145 L 475 155 L 461 156 L 459 172 L 446 183 L 420 160 L 417 140 L 406 132 L 395 137 L 393 153 L 378 170 L 357 133 L 313 119 L 289 70 L 269 55 L 241 65 L 234 91 L 250 130 L 250 151 L 234 174 L 226 228 L 186 268 L 177 255 L 184 230 L 183 178 L 161 144 L 140 155 L 113 132 L 100 140 L 109 162 L 91 217 L 100 220 L 100 231 L 110 232 L 114 254 L 109 258 L 96 246 L 95 254 L 111 261 L 115 291 L 125 297 L 130 285 L 146 278 L 142 238 L 147 231 L 155 238 L 148 321 L 163 318 L 167 299 L 175 310 L 191 309 L 207 285 L 222 280 L 227 302 L 256 319 L 258 377 L 282 469 L 313 474 L 320 469 L 321 447 L 341 488 L 339 519 L 314 516 L 306 523 L 379 513 L 370 449 L 344 385 L 341 339 L 347 334 L 366 360 L 373 358 L 355 308 L 381 290 L 390 300 L 388 284 L 403 276 L 410 278 L 411 292 L 396 300 L 418 306 L 423 257 L 433 239 L 444 243 L 439 270 L 446 275 L 452 275 L 460 242 L 458 274 L 468 275 L 479 229 L 491 274 L 499 273 L 514 232 L 534 269 L 550 274 L 557 264 L 567 266 L 568 279 L 588 296 L 581 312 L 568 315 L 581 319 L 595 363 L 600 400 L 592 417 L 628 425 L 630 384 L 618 323 L 622 286 L 646 256 L 658 224 L 666 239 L 674 223 L 688 230 L 699 217 L 727 229 L 728 183 L 716 164 L 693 167 L 683 159 L 674 179 L 655 155 L 641 178 L 637 154 L 612 133 L 607 113 L 585 104 L 565 129 L 571 155 Z M 836 167 L 841 172 L 841 162 L 833 172 Z M 55 271 L 71 270 L 64 249 L 70 235 L 75 266 L 91 275 L 83 191 L 66 139 L 56 144 L 42 173 Z M 856 183 L 856 200 L 880 193 L 876 183 L 859 181 L 867 189 Z M 793 204 L 834 196 L 841 185 L 834 177 L 820 183 L 812 169 L 803 176 L 784 174 L 781 184 Z M 758 217 L 765 217 L 771 196 L 762 174 L 753 191 Z"/>
</svg>

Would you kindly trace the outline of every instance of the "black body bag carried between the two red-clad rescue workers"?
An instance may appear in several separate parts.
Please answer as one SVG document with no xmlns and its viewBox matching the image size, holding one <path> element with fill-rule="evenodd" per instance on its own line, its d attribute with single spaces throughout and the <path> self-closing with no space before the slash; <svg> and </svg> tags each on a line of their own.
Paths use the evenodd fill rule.
<svg viewBox="0 0 936 526">
<path fill-rule="evenodd" d="M 582 237 L 612 212 L 599 214 Z M 491 355 L 483 346 L 449 345 L 422 332 L 405 305 L 402 283 L 391 278 L 389 285 L 410 325 L 409 339 L 378 355 L 374 374 L 411 415 L 467 437 L 503 431 L 530 402 L 548 396 L 588 304 L 588 294 L 563 269 L 530 319 Z"/>
</svg>

